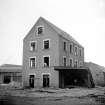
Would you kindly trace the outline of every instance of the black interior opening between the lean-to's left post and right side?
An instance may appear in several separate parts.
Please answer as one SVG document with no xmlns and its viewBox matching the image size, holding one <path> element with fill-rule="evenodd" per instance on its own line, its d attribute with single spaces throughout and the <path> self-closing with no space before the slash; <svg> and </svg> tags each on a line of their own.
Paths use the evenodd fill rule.
<svg viewBox="0 0 105 105">
<path fill-rule="evenodd" d="M 87 73 L 79 70 L 64 72 L 64 86 L 86 86 L 88 81 Z"/>
</svg>

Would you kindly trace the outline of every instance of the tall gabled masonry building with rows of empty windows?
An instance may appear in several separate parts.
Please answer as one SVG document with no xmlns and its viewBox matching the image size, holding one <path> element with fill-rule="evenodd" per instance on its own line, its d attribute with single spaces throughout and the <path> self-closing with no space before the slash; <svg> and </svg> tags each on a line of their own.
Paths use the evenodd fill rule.
<svg viewBox="0 0 105 105">
<path fill-rule="evenodd" d="M 65 87 L 76 82 L 80 85 L 85 80 L 89 82 L 88 75 L 82 80 L 86 71 L 83 65 L 84 48 L 42 17 L 23 40 L 23 86 Z M 81 78 L 78 73 L 73 77 L 74 71 L 79 71 Z"/>
</svg>

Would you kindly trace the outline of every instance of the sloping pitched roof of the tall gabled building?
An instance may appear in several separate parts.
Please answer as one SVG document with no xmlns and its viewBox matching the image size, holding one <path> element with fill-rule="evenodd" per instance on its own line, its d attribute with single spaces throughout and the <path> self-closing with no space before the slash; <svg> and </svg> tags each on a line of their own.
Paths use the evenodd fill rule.
<svg viewBox="0 0 105 105">
<path fill-rule="evenodd" d="M 75 44 L 82 47 L 82 45 L 80 45 L 70 34 L 64 32 L 63 30 L 61 30 L 60 28 L 58 28 L 54 24 L 50 23 L 48 20 L 44 19 L 43 17 L 40 17 L 39 19 L 44 20 L 50 27 L 52 27 L 58 33 L 58 35 L 61 35 L 65 39 L 68 39 L 68 40 L 70 40 L 70 41 L 74 42 Z"/>
</svg>

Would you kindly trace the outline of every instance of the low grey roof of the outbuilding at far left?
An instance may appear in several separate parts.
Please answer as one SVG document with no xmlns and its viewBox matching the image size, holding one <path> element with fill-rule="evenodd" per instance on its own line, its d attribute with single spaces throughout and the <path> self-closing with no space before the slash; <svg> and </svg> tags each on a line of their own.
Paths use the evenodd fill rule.
<svg viewBox="0 0 105 105">
<path fill-rule="evenodd" d="M 3 64 L 0 66 L 0 72 L 22 72 L 22 66 L 13 64 Z"/>
</svg>

